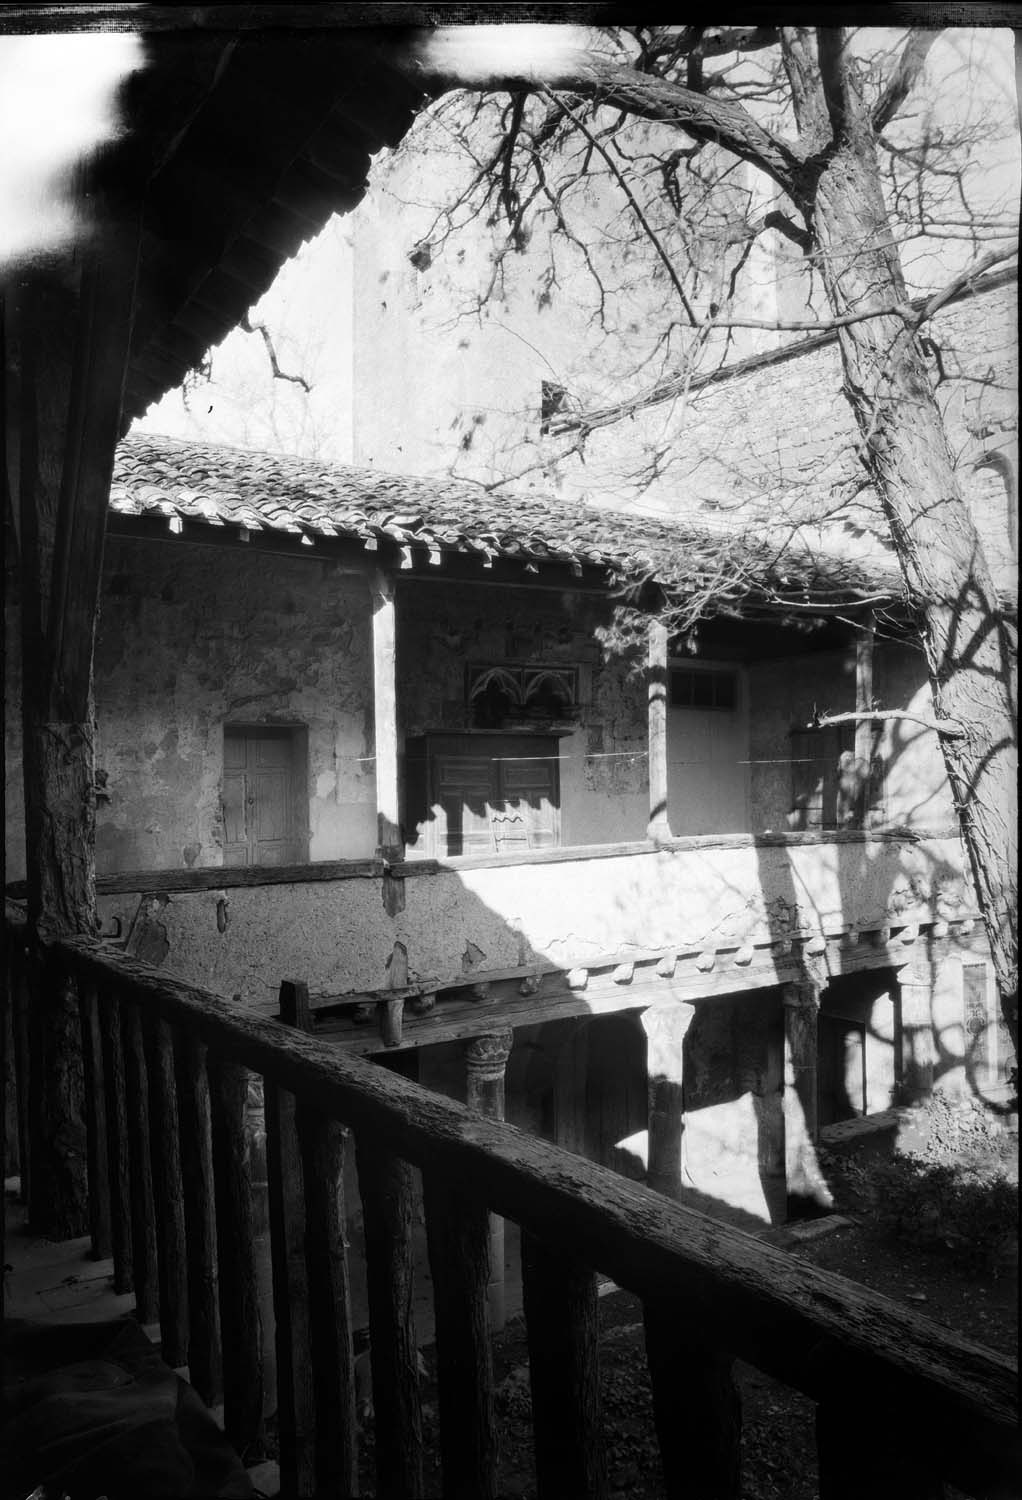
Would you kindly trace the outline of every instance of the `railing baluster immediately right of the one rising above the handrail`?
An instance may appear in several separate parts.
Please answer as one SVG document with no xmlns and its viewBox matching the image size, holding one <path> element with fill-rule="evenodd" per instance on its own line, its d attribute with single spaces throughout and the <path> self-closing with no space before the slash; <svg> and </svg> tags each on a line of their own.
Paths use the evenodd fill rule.
<svg viewBox="0 0 1022 1500">
<path fill-rule="evenodd" d="M 351 1286 L 344 1212 L 347 1131 L 299 1101 L 305 1182 L 309 1350 L 315 1389 L 315 1473 L 324 1494 L 359 1494 Z"/>
</svg>

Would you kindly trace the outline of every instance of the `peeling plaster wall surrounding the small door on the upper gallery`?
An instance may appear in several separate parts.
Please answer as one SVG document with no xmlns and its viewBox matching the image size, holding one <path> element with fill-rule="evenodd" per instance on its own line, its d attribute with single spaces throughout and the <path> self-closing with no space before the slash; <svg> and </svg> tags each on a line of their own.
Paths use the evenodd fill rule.
<svg viewBox="0 0 1022 1500">
<path fill-rule="evenodd" d="M 12 663 L 9 688 L 20 674 Z M 372 855 L 368 585 L 332 562 L 111 538 L 96 636 L 96 868 L 224 862 L 225 724 L 308 730 L 308 858 Z M 24 873 L 18 716 L 8 807 Z M 11 844 L 9 844 L 11 848 Z M 18 868 L 20 866 L 20 868 Z"/>
</svg>

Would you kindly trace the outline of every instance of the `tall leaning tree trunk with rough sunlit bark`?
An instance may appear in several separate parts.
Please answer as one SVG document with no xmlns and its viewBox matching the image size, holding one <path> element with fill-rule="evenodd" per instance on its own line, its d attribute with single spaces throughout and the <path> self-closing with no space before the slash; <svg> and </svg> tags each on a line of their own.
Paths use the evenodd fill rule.
<svg viewBox="0 0 1022 1500">
<path fill-rule="evenodd" d="M 876 142 L 833 34 L 816 56 L 785 32 L 795 116 L 810 156 L 800 207 L 836 315 L 906 302 Z M 1017 1048 L 1016 724 L 1013 640 L 954 472 L 915 328 L 902 316 L 839 328 L 845 396 L 915 608 L 962 838 L 1001 1008 Z"/>
</svg>

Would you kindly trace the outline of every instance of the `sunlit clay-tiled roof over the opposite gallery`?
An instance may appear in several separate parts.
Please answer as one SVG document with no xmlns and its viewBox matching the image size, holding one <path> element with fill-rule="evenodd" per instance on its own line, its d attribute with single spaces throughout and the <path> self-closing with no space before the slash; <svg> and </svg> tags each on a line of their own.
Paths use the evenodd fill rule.
<svg viewBox="0 0 1022 1500">
<path fill-rule="evenodd" d="M 606 568 L 617 579 L 651 578 L 678 597 L 720 585 L 720 608 L 738 598 L 852 598 L 899 594 L 893 572 L 878 579 L 846 560 L 810 555 L 785 536 L 743 534 L 579 507 L 534 494 L 494 494 L 447 477 L 378 474 L 179 438 L 132 435 L 114 465 L 111 508 L 309 540 L 360 540 L 410 548 L 413 562 L 437 552 L 482 554 L 540 567 Z"/>
</svg>

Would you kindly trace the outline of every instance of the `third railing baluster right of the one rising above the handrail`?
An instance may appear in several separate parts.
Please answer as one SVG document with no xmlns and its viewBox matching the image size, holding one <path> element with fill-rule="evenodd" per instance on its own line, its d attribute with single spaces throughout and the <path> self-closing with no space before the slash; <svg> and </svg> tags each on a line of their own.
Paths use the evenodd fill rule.
<svg viewBox="0 0 1022 1500">
<path fill-rule="evenodd" d="M 473 1118 L 479 1120 L 474 1113 Z M 423 1172 L 437 1320 L 443 1497 L 495 1500 L 497 1434 L 486 1300 L 489 1215 L 485 1197 L 452 1188 L 456 1180 L 456 1174 Z"/>
</svg>

